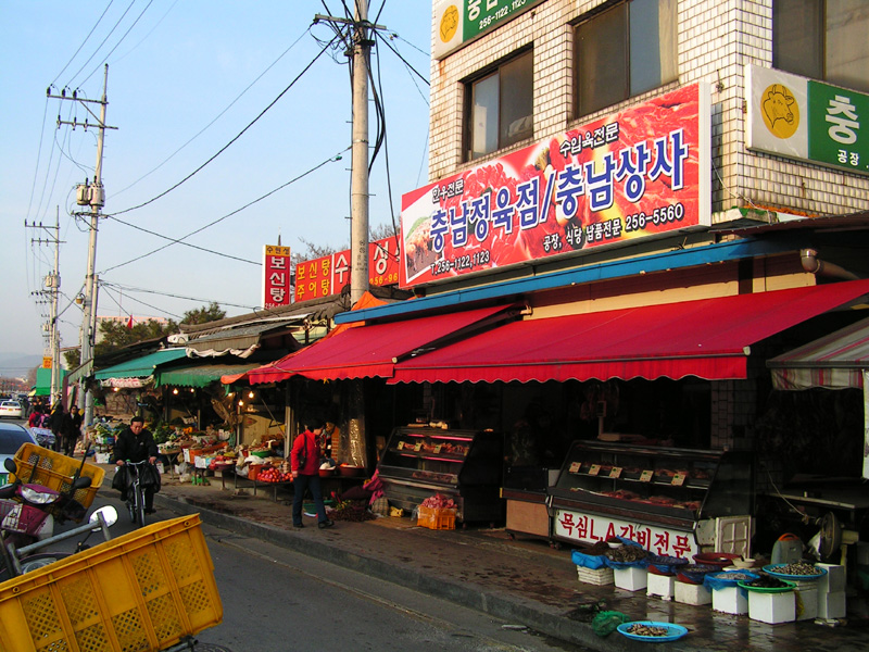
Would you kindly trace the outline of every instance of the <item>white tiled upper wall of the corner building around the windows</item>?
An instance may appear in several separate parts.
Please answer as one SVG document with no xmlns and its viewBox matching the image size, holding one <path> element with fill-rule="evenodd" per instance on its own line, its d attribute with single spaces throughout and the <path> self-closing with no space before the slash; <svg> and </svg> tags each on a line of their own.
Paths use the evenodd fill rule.
<svg viewBox="0 0 869 652">
<path fill-rule="evenodd" d="M 443 61 L 432 60 L 430 180 L 468 166 L 462 163 L 464 80 L 522 46 L 533 43 L 534 48 L 533 141 L 574 123 L 570 22 L 602 3 L 603 0 L 546 0 Z M 734 205 L 808 214 L 869 210 L 869 177 L 745 149 L 743 66 L 771 63 L 772 0 L 679 0 L 678 12 L 678 84 L 704 80 L 713 88 L 713 211 L 719 213 L 717 218 L 721 220 L 720 212 Z M 641 103 L 672 86 L 632 98 L 576 124 Z M 504 150 L 492 158 L 503 153 Z"/>
</svg>

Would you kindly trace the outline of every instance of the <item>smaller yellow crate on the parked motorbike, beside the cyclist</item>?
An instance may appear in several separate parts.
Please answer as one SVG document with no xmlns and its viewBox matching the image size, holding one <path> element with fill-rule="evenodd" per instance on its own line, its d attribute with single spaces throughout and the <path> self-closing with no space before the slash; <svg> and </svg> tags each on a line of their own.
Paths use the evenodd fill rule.
<svg viewBox="0 0 869 652">
<path fill-rule="evenodd" d="M 96 464 L 86 462 L 83 465 L 79 460 L 34 443 L 25 443 L 18 449 L 15 453 L 15 464 L 18 467 L 16 475 L 23 482 L 43 485 L 64 494 L 70 491 L 73 477 L 80 469 L 81 477 L 90 478 L 90 487 L 76 490 L 73 499 L 86 510 L 93 502 L 105 475 L 105 472 Z"/>
</svg>

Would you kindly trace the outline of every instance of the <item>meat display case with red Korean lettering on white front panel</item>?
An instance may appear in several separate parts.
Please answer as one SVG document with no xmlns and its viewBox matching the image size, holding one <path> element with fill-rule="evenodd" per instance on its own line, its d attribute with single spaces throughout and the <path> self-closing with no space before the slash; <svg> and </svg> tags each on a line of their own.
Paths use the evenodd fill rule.
<svg viewBox="0 0 869 652">
<path fill-rule="evenodd" d="M 752 454 L 575 441 L 550 488 L 554 539 L 639 540 L 657 554 L 747 554 Z"/>
</svg>

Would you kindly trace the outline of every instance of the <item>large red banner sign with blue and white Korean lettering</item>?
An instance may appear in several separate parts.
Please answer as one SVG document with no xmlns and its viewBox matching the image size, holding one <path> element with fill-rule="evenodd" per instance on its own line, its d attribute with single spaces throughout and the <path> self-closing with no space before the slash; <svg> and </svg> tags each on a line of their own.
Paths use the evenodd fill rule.
<svg viewBox="0 0 869 652">
<path fill-rule="evenodd" d="M 693 84 L 404 195 L 400 285 L 708 226 L 709 124 Z"/>
</svg>

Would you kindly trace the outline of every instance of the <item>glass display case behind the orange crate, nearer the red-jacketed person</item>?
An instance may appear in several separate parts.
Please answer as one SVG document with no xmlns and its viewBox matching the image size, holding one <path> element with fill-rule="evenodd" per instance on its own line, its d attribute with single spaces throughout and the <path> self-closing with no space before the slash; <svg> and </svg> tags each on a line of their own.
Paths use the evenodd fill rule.
<svg viewBox="0 0 869 652">
<path fill-rule="evenodd" d="M 457 505 L 464 522 L 503 518 L 503 437 L 489 430 L 394 428 L 378 465 L 389 502 L 413 510 L 441 493 Z"/>
</svg>

